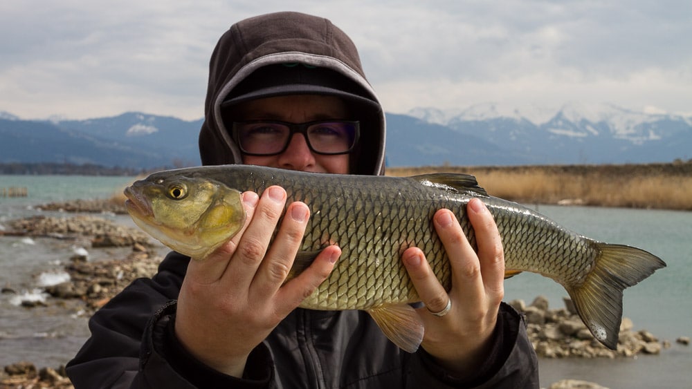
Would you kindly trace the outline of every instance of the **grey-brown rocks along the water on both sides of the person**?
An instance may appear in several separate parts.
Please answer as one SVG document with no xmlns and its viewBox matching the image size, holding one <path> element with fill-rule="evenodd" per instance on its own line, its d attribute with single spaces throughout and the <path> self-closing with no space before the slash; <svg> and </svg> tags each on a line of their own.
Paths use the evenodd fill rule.
<svg viewBox="0 0 692 389">
<path fill-rule="evenodd" d="M 112 202 L 109 202 L 112 203 Z M 117 205 L 117 204 L 116 204 Z M 109 208 L 107 208 L 109 207 Z M 46 205 L 41 209 L 69 210 L 72 212 L 124 213 L 117 206 L 107 206 L 102 200 L 78 200 L 70 203 Z M 156 273 L 163 259 L 156 253 L 148 236 L 142 231 L 117 225 L 98 216 L 66 216 L 61 218 L 35 216 L 13 220 L 3 234 L 13 236 L 47 236 L 74 239 L 91 248 L 131 247 L 125 258 L 91 262 L 86 256 L 75 254 L 64 271 L 69 281 L 44 287 L 52 296 L 48 304 L 61 305 L 68 301 L 83 305 L 80 315 L 88 318 L 115 296 L 123 287 L 140 277 Z M 14 293 L 3 289 L 3 293 Z M 40 302 L 22 303 L 26 309 Z M 541 358 L 622 358 L 637 354 L 660 354 L 671 347 L 671 341 L 659 340 L 646 330 L 635 330 L 632 321 L 623 318 L 617 350 L 608 350 L 596 341 L 576 315 L 574 305 L 565 299 L 565 307 L 549 309 L 547 298 L 538 296 L 529 305 L 524 301 L 510 302 L 525 315 L 529 339 Z M 677 343 L 689 345 L 689 337 L 681 336 Z M 0 389 L 5 388 L 72 388 L 65 377 L 64 366 L 37 368 L 28 361 L 18 361 L 0 371 Z M 560 381 L 550 388 L 601 388 L 583 381 Z"/>
</svg>

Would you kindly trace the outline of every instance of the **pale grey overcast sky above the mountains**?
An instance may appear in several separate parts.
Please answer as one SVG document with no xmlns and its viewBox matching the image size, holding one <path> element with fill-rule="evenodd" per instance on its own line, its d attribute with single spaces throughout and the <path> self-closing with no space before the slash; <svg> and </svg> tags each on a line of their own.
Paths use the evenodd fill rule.
<svg viewBox="0 0 692 389">
<path fill-rule="evenodd" d="M 217 39 L 278 10 L 345 30 L 390 113 L 608 102 L 692 115 L 689 0 L 6 0 L 0 111 L 198 119 Z"/>
</svg>

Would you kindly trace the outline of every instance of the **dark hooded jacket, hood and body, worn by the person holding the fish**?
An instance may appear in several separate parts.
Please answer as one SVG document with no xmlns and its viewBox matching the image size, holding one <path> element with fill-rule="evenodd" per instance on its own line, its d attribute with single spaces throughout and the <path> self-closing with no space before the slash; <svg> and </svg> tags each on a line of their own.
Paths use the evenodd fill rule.
<svg viewBox="0 0 692 389">
<path fill-rule="evenodd" d="M 352 158 L 358 161 L 352 171 L 383 173 L 384 115 L 355 46 L 326 19 L 295 12 L 246 19 L 219 40 L 210 62 L 206 120 L 199 135 L 203 164 L 240 162 L 228 133 L 233 118 L 224 106 L 256 98 L 257 89 L 245 88 L 244 82 L 261 74 L 257 70 L 286 63 L 340 75 L 347 87 L 336 93 L 356 107 L 363 123 L 362 147 L 356 151 L 358 158 Z M 275 84 L 260 90 L 265 97 L 294 91 Z M 226 376 L 194 359 L 174 335 L 176 298 L 189 261 L 172 252 L 154 277 L 134 281 L 92 316 L 91 337 L 67 366 L 75 388 L 538 387 L 536 354 L 525 323 L 504 303 L 491 355 L 473 377 L 453 377 L 422 348 L 413 354 L 400 350 L 365 312 L 302 308 L 253 350 L 244 377 Z M 200 323 L 201 331 L 203 326 Z"/>
</svg>

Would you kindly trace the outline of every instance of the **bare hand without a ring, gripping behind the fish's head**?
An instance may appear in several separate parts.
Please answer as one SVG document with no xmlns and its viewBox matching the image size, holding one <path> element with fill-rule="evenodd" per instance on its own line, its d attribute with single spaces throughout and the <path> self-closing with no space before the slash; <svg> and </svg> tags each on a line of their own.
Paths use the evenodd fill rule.
<svg viewBox="0 0 692 389">
<path fill-rule="evenodd" d="M 341 254 L 337 246 L 326 247 L 284 285 L 310 211 L 291 203 L 269 247 L 286 191 L 269 187 L 261 198 L 246 192 L 243 202 L 243 229 L 204 260 L 190 261 L 175 319 L 176 337 L 194 357 L 235 377 L 242 377 L 248 354 L 325 281 Z"/>
</svg>

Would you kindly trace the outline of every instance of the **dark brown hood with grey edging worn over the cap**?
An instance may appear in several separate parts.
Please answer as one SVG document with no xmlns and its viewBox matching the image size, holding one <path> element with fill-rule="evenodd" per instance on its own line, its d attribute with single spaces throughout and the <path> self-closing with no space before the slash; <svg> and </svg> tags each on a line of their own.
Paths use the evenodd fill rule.
<svg viewBox="0 0 692 389">
<path fill-rule="evenodd" d="M 228 100 L 280 95 L 246 90 L 244 80 L 271 66 L 301 64 L 333 73 L 336 85 L 313 88 L 316 94 L 337 95 L 361 122 L 361 137 L 351 155 L 352 173 L 384 172 L 385 116 L 372 87 L 365 79 L 358 51 L 351 39 L 331 21 L 299 12 L 276 12 L 239 21 L 221 36 L 212 53 L 205 103 L 205 120 L 199 133 L 202 164 L 242 163 L 228 126 Z M 255 74 L 261 74 L 255 73 Z M 284 94 L 290 88 L 281 89 Z M 224 104 L 226 102 L 226 104 Z"/>
</svg>

